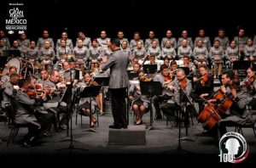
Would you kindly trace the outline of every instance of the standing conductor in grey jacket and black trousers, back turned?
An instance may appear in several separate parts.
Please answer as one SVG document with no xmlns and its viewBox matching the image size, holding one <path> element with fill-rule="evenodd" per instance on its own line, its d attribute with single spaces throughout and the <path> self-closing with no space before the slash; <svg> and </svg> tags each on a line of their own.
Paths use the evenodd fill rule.
<svg viewBox="0 0 256 168">
<path fill-rule="evenodd" d="M 102 57 L 102 70 L 110 68 L 109 91 L 112 100 L 113 125 L 109 128 L 127 128 L 126 120 L 126 89 L 129 84 L 127 67 L 129 55 L 119 48 L 119 39 L 110 40 L 110 49 L 113 53 L 107 57 Z"/>
</svg>

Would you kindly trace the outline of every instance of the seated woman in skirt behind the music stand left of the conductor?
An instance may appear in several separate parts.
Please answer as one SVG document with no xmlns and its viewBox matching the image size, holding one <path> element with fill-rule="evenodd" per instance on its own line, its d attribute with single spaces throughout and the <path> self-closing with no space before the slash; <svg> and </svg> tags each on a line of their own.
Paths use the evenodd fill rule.
<svg viewBox="0 0 256 168">
<path fill-rule="evenodd" d="M 85 72 L 84 74 L 84 81 L 79 82 L 78 89 L 80 92 L 83 91 L 84 87 L 93 87 L 97 86 L 98 83 L 96 81 L 93 81 L 93 79 L 90 77 L 89 72 Z M 96 124 L 96 118 L 93 117 L 92 111 L 96 108 L 96 101 L 91 101 L 91 108 L 90 108 L 90 98 L 80 98 L 79 100 L 79 112 L 81 115 L 86 115 L 90 117 L 91 123 L 90 126 L 94 126 Z M 90 111 L 91 109 L 91 111 Z"/>
</svg>

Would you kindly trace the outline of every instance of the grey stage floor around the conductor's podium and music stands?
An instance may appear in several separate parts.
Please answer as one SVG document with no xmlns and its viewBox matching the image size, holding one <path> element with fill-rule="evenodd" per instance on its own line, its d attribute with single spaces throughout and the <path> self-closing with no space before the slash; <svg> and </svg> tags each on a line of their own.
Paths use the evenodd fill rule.
<svg viewBox="0 0 256 168">
<path fill-rule="evenodd" d="M 130 111 L 130 125 L 133 125 L 133 116 Z M 58 142 L 64 137 L 67 137 L 65 131 L 62 132 L 49 132 L 51 137 L 44 137 L 39 140 L 37 146 L 31 148 L 21 147 L 22 137 L 26 134 L 26 128 L 20 128 L 20 132 L 15 139 L 15 143 L 10 143 L 9 147 L 6 146 L 7 139 L 9 137 L 10 129 L 5 126 L 3 122 L 0 123 L 0 138 L 2 139 L 2 144 L 0 144 L 0 158 L 9 158 L 9 156 L 40 156 L 47 157 L 48 160 L 52 158 L 65 158 L 68 156 L 70 158 L 70 152 L 73 156 L 82 158 L 90 155 L 102 156 L 103 158 L 108 158 L 112 155 L 120 157 L 122 159 L 127 159 L 125 156 L 137 158 L 141 157 L 142 160 L 148 160 L 150 158 L 168 158 L 168 161 L 177 161 L 178 159 L 185 158 L 197 162 L 201 158 L 206 160 L 214 160 L 218 163 L 218 141 L 216 138 L 203 134 L 203 128 L 201 124 L 198 124 L 195 117 L 194 126 L 191 124 L 189 126 L 188 137 L 193 141 L 182 141 L 181 147 L 188 151 L 185 155 L 178 152 L 172 153 L 172 150 L 177 149 L 178 141 L 178 127 L 172 127 L 172 122 L 166 126 L 166 120 L 154 120 L 153 129 L 146 132 L 146 145 L 108 145 L 108 131 L 109 125 L 113 123 L 113 117 L 110 109 L 108 114 L 99 116 L 100 126 L 95 126 L 96 132 L 82 132 L 84 129 L 89 128 L 88 117 L 83 116 L 83 125 L 80 123 L 80 115 L 78 118 L 78 124 L 75 125 L 75 115 L 73 115 L 73 139 L 77 142 L 73 142 L 74 149 L 70 150 L 58 150 L 61 148 L 69 148 L 70 142 Z M 149 126 L 149 113 L 143 116 L 143 123 Z M 234 127 L 228 128 L 229 131 L 234 131 Z M 181 127 L 182 137 L 185 137 L 185 127 Z M 244 136 L 250 148 L 250 155 L 256 154 L 256 138 L 253 135 L 253 130 L 251 128 L 243 129 Z M 134 137 L 136 138 L 136 137 Z M 81 151 L 75 148 L 84 148 L 88 151 Z M 172 157 L 168 157 L 169 155 Z M 50 157 L 49 157 L 50 156 Z M 55 156 L 55 157 L 51 157 Z M 124 157 L 122 157 L 124 156 Z M 208 157 L 209 156 L 209 157 Z M 95 157 L 93 157 L 95 159 Z M 62 160 L 62 159 L 61 159 Z M 66 160 L 67 161 L 67 160 Z M 152 161 L 152 160 L 149 160 Z M 157 161 L 157 160 L 155 160 Z M 167 161 L 167 160 L 166 160 Z M 251 160 L 253 161 L 253 160 Z"/>
</svg>

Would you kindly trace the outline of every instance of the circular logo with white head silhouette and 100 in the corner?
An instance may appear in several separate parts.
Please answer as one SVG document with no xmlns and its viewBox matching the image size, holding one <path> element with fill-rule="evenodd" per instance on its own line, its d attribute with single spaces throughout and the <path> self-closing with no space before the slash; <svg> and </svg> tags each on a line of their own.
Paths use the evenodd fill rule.
<svg viewBox="0 0 256 168">
<path fill-rule="evenodd" d="M 244 137 L 237 132 L 227 132 L 218 143 L 220 162 L 240 163 L 247 159 L 249 148 Z"/>
</svg>

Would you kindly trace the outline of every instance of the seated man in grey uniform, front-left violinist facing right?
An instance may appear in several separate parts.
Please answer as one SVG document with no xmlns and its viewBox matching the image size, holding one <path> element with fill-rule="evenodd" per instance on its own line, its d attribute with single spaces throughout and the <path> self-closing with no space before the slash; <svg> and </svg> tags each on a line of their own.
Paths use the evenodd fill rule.
<svg viewBox="0 0 256 168">
<path fill-rule="evenodd" d="M 41 132 L 41 124 L 38 122 L 36 116 L 34 115 L 34 109 L 32 105 L 36 101 L 27 95 L 27 83 L 25 80 L 20 80 L 18 83 L 20 90 L 17 92 L 15 97 L 16 102 L 16 115 L 15 123 L 26 124 L 28 127 L 28 132 L 24 137 L 24 147 L 31 147 L 32 143 L 36 140 L 39 133 Z"/>
</svg>

